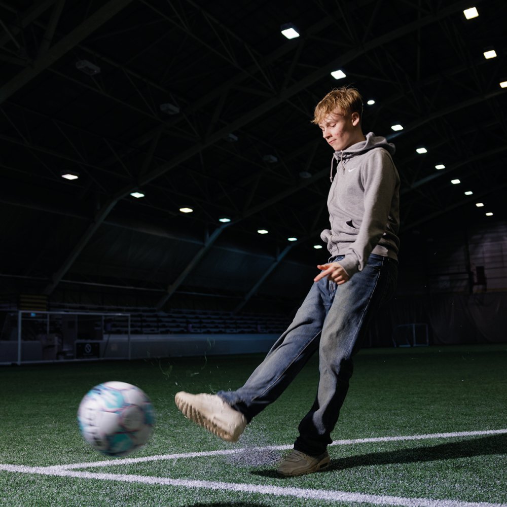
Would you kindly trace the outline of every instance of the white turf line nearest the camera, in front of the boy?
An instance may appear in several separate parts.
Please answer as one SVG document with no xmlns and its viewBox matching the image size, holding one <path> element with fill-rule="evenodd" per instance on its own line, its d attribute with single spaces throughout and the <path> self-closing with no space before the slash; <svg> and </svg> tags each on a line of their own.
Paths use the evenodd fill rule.
<svg viewBox="0 0 507 507">
<path fill-rule="evenodd" d="M 407 507 L 505 507 L 501 503 L 464 502 L 459 500 L 435 500 L 430 498 L 406 498 L 402 496 L 370 495 L 366 493 L 351 493 L 347 491 L 332 491 L 326 489 L 303 489 L 283 486 L 263 486 L 254 484 L 236 484 L 228 482 L 195 481 L 188 479 L 170 479 L 168 477 L 149 477 L 125 474 L 94 474 L 77 472 L 76 470 L 55 470 L 40 466 L 4 465 L 0 470 L 23 474 L 39 474 L 46 476 L 75 477 L 80 479 L 98 479 L 101 481 L 117 481 L 126 483 L 161 484 L 185 488 L 204 488 L 220 491 L 234 491 L 239 493 L 260 493 L 274 496 L 292 496 L 312 500 L 363 502 L 376 505 L 403 505 Z"/>
</svg>

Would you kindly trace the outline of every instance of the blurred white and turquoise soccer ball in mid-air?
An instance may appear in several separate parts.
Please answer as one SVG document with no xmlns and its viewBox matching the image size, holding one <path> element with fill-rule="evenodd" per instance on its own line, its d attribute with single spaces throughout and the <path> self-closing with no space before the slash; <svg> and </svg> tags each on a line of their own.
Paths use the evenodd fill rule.
<svg viewBox="0 0 507 507">
<path fill-rule="evenodd" d="M 85 394 L 78 410 L 84 439 L 108 456 L 126 456 L 148 442 L 155 423 L 146 394 L 126 382 L 104 382 Z"/>
</svg>

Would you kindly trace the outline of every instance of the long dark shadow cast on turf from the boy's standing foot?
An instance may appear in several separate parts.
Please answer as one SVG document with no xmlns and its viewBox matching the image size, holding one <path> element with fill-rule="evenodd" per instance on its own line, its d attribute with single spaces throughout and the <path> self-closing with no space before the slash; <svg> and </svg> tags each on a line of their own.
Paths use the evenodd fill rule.
<svg viewBox="0 0 507 507">
<path fill-rule="evenodd" d="M 332 470 L 354 468 L 356 466 L 417 463 L 420 461 L 439 461 L 506 453 L 507 434 L 499 434 L 490 437 L 463 440 L 460 442 L 449 442 L 431 447 L 415 447 L 410 449 L 400 449 L 399 451 L 372 452 L 369 454 L 333 459 L 330 466 L 322 470 L 322 473 L 331 472 Z M 255 470 L 251 473 L 253 475 L 280 479 L 280 476 L 273 469 Z"/>
</svg>

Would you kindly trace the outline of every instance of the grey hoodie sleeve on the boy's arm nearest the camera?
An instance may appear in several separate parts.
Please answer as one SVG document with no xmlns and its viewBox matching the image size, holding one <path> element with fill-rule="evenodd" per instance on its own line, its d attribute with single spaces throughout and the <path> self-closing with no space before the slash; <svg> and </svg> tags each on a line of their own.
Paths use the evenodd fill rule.
<svg viewBox="0 0 507 507">
<path fill-rule="evenodd" d="M 364 187 L 364 215 L 356 239 L 345 252 L 340 265 L 352 276 L 362 271 L 373 248 L 385 233 L 395 192 L 400 177 L 389 154 L 372 150 L 361 167 L 361 184 Z"/>
</svg>

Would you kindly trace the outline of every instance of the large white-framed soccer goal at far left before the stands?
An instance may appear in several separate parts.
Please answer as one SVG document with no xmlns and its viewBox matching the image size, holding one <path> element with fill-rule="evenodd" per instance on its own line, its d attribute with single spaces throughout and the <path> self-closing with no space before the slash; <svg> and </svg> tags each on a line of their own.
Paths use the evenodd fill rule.
<svg viewBox="0 0 507 507">
<path fill-rule="evenodd" d="M 130 313 L 8 313 L 0 335 L 0 363 L 130 359 L 130 325 Z"/>
</svg>

